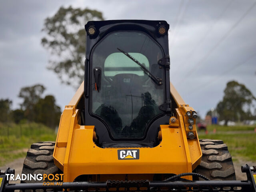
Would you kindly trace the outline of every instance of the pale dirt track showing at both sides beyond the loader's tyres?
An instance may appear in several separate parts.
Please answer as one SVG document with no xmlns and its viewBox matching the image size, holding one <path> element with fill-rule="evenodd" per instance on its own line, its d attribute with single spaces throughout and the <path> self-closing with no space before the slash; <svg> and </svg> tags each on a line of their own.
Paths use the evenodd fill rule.
<svg viewBox="0 0 256 192">
<path fill-rule="evenodd" d="M 236 159 L 238 158 L 236 157 Z M 15 174 L 18 174 L 18 173 L 21 174 L 23 162 L 24 162 L 24 158 L 18 158 L 13 162 L 10 162 L 5 166 L 0 167 L 0 170 L 5 170 L 6 168 L 10 167 L 15 169 Z M 241 172 L 241 166 L 245 164 L 253 166 L 253 165 L 256 165 L 256 162 L 242 160 L 241 158 L 238 161 L 234 162 L 234 167 L 236 171 L 236 180 L 246 180 L 246 174 Z M 19 182 L 17 181 L 17 182 L 10 182 L 10 183 L 19 183 Z"/>
</svg>

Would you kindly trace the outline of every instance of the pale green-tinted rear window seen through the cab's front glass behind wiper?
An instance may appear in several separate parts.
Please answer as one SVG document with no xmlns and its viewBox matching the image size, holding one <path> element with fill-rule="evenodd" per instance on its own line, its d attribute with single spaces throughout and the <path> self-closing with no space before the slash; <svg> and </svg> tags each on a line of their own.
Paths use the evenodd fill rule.
<svg viewBox="0 0 256 192">
<path fill-rule="evenodd" d="M 149 70 L 149 62 L 146 56 L 141 53 L 129 54 L 138 60 L 138 62 L 144 64 Z M 140 66 L 120 52 L 110 54 L 104 62 L 104 75 L 106 77 L 113 77 L 117 74 L 136 74 L 138 76 L 144 76 L 144 72 L 140 69 Z"/>
</svg>

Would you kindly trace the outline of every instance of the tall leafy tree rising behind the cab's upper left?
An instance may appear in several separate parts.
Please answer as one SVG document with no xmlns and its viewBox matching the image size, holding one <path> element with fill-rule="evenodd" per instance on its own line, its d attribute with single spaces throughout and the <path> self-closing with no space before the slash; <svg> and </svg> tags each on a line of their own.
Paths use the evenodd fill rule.
<svg viewBox="0 0 256 192">
<path fill-rule="evenodd" d="M 84 25 L 89 20 L 103 20 L 102 13 L 88 8 L 60 7 L 54 16 L 44 21 L 42 30 L 47 36 L 42 38 L 41 43 L 53 56 L 48 69 L 68 85 L 78 86 L 84 77 Z"/>
</svg>

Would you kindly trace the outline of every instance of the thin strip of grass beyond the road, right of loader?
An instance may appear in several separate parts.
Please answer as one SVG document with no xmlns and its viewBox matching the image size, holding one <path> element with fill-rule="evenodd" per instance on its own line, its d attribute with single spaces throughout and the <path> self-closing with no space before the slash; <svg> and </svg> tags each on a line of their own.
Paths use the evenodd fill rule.
<svg viewBox="0 0 256 192">
<path fill-rule="evenodd" d="M 213 131 L 214 128 L 216 132 L 226 132 L 226 131 L 253 131 L 256 125 L 238 125 L 238 126 L 221 126 L 221 125 L 208 125 L 207 130 Z"/>
</svg>

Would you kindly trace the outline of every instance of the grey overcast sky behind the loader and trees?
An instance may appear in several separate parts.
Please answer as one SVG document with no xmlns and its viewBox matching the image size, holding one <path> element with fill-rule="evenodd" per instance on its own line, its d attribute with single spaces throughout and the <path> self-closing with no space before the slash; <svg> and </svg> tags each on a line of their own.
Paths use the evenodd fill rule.
<svg viewBox="0 0 256 192">
<path fill-rule="evenodd" d="M 256 96 L 254 0 L 0 0 L 0 98 L 10 98 L 13 108 L 21 102 L 20 88 L 36 83 L 62 109 L 72 98 L 74 88 L 46 69 L 50 55 L 40 44 L 44 19 L 70 5 L 97 9 L 106 20 L 166 20 L 171 82 L 202 116 L 230 80 Z"/>
</svg>

